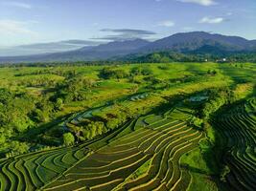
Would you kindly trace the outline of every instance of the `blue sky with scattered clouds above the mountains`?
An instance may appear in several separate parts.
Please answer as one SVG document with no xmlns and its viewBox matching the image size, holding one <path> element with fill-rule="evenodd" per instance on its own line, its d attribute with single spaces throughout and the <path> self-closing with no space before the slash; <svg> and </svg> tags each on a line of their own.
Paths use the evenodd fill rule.
<svg viewBox="0 0 256 191">
<path fill-rule="evenodd" d="M 255 0 L 0 0 L 0 46 L 157 39 L 205 31 L 256 39 Z"/>
</svg>

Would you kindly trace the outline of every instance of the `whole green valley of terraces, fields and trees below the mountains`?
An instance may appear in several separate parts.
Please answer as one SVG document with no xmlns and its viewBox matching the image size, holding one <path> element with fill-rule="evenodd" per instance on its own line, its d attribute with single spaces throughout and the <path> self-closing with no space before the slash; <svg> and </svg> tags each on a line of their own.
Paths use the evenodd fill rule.
<svg viewBox="0 0 256 191">
<path fill-rule="evenodd" d="M 254 190 L 255 74 L 252 63 L 2 67 L 0 190 Z"/>
</svg>

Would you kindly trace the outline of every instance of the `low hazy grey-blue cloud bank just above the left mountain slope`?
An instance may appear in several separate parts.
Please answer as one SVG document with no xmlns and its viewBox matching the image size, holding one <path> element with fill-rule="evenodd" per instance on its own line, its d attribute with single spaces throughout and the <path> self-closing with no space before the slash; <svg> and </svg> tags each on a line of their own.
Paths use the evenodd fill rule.
<svg viewBox="0 0 256 191">
<path fill-rule="evenodd" d="M 61 53 L 78 50 L 82 47 L 88 49 L 102 43 L 103 42 L 95 42 L 88 40 L 66 40 L 59 42 L 37 43 L 14 47 L 5 47 L 0 48 L 0 56 L 33 55 L 40 53 Z"/>
</svg>

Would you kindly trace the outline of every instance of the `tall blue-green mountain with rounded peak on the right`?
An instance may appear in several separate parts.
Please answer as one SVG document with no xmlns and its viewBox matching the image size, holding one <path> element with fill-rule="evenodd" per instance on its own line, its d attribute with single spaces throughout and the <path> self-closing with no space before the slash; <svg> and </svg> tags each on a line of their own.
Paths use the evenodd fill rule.
<svg viewBox="0 0 256 191">
<path fill-rule="evenodd" d="M 152 42 L 139 50 L 141 53 L 157 51 L 174 51 L 188 53 L 202 49 L 203 47 L 221 50 L 222 52 L 255 51 L 254 41 L 246 40 L 239 36 L 226 36 L 208 32 L 184 32 L 176 33 L 166 38 Z"/>
</svg>

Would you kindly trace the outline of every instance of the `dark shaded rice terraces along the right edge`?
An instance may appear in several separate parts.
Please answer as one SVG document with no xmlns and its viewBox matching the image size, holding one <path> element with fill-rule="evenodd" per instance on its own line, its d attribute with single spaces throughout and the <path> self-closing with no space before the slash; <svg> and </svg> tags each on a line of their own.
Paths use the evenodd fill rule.
<svg viewBox="0 0 256 191">
<path fill-rule="evenodd" d="M 229 167 L 232 190 L 256 189 L 256 99 L 250 99 L 215 121 L 226 148 L 223 162 Z"/>
</svg>

